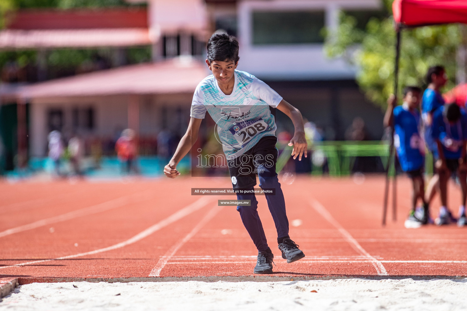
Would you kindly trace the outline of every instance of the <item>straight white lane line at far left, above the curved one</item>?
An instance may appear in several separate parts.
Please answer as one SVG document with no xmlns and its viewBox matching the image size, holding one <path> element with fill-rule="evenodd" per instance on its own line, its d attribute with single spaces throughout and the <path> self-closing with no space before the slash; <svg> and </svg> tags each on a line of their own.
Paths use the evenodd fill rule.
<svg viewBox="0 0 467 311">
<path fill-rule="evenodd" d="M 66 214 L 62 214 L 62 215 L 58 215 L 58 216 L 54 216 L 54 217 L 34 221 L 34 222 L 28 223 L 26 225 L 22 225 L 22 226 L 19 226 L 19 227 L 15 227 L 15 228 L 11 228 L 11 229 L 7 229 L 5 231 L 2 231 L 2 232 L 0 232 L 0 237 L 4 237 L 4 236 L 7 236 L 7 235 L 12 235 L 12 234 L 22 232 L 22 231 L 26 231 L 26 230 L 39 228 L 39 227 L 42 227 L 42 226 L 45 226 L 45 225 L 50 225 L 50 224 L 56 223 L 56 222 L 67 221 L 67 220 L 71 220 L 71 219 L 77 218 L 77 217 L 83 217 L 83 216 L 87 216 L 87 215 L 91 215 L 91 214 L 96 214 L 96 213 L 99 213 L 99 212 L 104 212 L 104 211 L 109 210 L 109 209 L 122 207 L 122 206 L 125 206 L 125 205 L 130 204 L 130 203 L 140 202 L 142 200 L 149 200 L 151 193 L 154 193 L 154 191 L 153 190 L 146 190 L 146 191 L 142 191 L 142 192 L 139 192 L 139 193 L 136 193 L 136 194 L 129 194 L 129 195 L 117 198 L 117 199 L 113 199 L 113 200 L 106 201 L 106 202 L 103 202 L 103 203 L 99 203 L 99 204 L 96 204 L 96 205 L 92 205 L 92 206 L 89 206 L 89 207 L 80 208 L 78 210 L 75 210 L 75 211 L 72 211 L 72 212 L 69 212 L 69 213 L 66 213 Z"/>
</svg>

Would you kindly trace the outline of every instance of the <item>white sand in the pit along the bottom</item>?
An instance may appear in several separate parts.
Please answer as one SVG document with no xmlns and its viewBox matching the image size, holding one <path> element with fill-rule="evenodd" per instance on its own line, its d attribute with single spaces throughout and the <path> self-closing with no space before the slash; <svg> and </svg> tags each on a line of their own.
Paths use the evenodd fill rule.
<svg viewBox="0 0 467 311">
<path fill-rule="evenodd" d="M 467 278 L 33 283 L 4 297 L 0 310 L 467 310 Z"/>
</svg>

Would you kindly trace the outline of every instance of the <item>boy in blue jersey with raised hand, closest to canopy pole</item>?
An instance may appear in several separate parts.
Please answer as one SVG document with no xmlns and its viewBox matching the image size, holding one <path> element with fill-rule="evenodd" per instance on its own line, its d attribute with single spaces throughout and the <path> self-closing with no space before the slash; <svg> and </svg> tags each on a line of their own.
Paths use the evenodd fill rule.
<svg viewBox="0 0 467 311">
<path fill-rule="evenodd" d="M 394 124 L 394 145 L 402 170 L 412 180 L 412 209 L 404 222 L 405 228 L 419 228 L 428 222 L 428 204 L 425 201 L 425 182 L 423 168 L 425 163 L 425 144 L 420 137 L 420 100 L 422 90 L 415 86 L 403 90 L 403 105 L 396 105 L 396 97 L 388 100 L 384 115 L 384 126 Z M 415 213 L 417 200 L 423 203 L 423 214 Z"/>
</svg>

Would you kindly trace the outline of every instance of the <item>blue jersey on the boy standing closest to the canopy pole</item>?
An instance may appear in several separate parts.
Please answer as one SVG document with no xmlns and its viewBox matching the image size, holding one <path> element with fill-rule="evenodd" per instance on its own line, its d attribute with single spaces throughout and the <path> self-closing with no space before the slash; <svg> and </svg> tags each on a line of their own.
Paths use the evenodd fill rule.
<svg viewBox="0 0 467 311">
<path fill-rule="evenodd" d="M 410 111 L 408 106 L 394 108 L 394 145 L 404 172 L 420 169 L 424 164 L 424 148 L 420 137 L 420 114 Z"/>
</svg>

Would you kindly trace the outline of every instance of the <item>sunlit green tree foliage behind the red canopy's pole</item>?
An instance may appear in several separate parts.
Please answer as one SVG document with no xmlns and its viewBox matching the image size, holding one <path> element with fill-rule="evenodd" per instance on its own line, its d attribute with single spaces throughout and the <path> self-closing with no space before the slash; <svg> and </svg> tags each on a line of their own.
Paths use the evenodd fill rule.
<svg viewBox="0 0 467 311">
<path fill-rule="evenodd" d="M 394 91 L 396 31 L 392 0 L 386 0 L 384 18 L 370 18 L 364 29 L 350 14 L 341 14 L 337 33 L 328 34 L 325 51 L 330 57 L 342 57 L 358 68 L 357 83 L 369 100 L 382 108 Z M 429 67 L 443 65 L 452 88 L 456 73 L 456 50 L 460 45 L 459 25 L 426 26 L 402 30 L 399 69 L 399 93 L 406 85 L 425 87 Z M 400 98 L 400 94 L 399 94 Z"/>
</svg>

